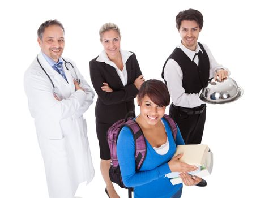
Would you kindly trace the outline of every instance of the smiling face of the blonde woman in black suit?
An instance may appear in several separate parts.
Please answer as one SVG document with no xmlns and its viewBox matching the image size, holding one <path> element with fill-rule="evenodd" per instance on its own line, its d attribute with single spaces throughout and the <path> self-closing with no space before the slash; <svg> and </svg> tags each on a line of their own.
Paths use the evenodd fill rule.
<svg viewBox="0 0 256 198">
<path fill-rule="evenodd" d="M 103 45 L 109 59 L 113 59 L 120 54 L 120 41 L 120 35 L 113 29 L 102 34 L 101 44 Z"/>
</svg>

